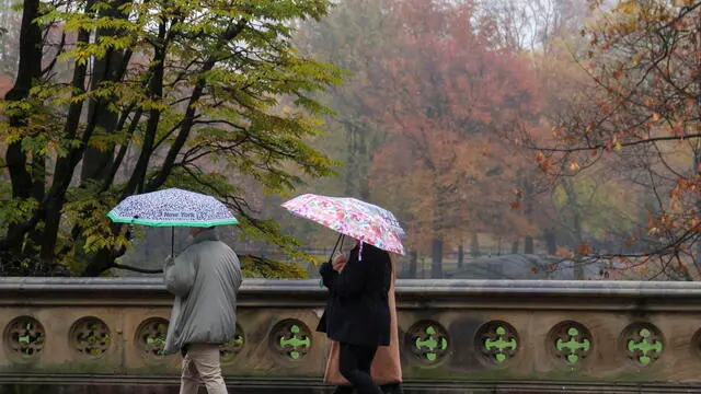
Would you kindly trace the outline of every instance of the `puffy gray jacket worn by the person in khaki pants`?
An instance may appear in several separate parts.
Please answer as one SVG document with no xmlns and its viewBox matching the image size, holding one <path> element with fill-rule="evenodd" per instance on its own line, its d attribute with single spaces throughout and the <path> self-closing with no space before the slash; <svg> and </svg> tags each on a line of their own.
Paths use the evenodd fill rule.
<svg viewBox="0 0 701 394">
<path fill-rule="evenodd" d="M 189 344 L 221 345 L 233 338 L 241 266 L 215 229 L 203 231 L 176 258 L 166 259 L 163 278 L 175 296 L 166 355 Z"/>
</svg>

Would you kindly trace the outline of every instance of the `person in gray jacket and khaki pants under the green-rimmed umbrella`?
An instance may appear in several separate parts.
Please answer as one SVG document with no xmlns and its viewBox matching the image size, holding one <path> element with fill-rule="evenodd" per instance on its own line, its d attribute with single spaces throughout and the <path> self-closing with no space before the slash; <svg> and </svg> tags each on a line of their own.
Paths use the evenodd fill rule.
<svg viewBox="0 0 701 394">
<path fill-rule="evenodd" d="M 219 346 L 235 334 L 241 266 L 215 228 L 189 233 L 189 245 L 163 267 L 165 288 L 175 296 L 165 354 L 184 356 L 181 394 L 196 394 L 200 383 L 209 394 L 227 394 Z"/>
</svg>

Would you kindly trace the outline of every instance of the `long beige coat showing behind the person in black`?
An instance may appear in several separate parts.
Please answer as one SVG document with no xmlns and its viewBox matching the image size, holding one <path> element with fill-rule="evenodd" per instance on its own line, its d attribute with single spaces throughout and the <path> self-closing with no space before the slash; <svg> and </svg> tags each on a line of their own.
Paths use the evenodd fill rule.
<svg viewBox="0 0 701 394">
<path fill-rule="evenodd" d="M 392 271 L 395 273 L 394 262 L 392 262 Z M 397 301 L 394 300 L 394 280 L 390 286 L 388 294 L 388 303 L 390 306 L 390 346 L 381 346 L 377 350 L 375 360 L 372 361 L 372 380 L 377 384 L 401 383 L 402 382 L 402 363 L 399 358 L 399 326 L 397 325 Z M 324 382 L 331 385 L 347 385 L 348 381 L 338 372 L 338 351 L 340 344 L 331 341 L 329 359 L 326 360 L 326 371 L 324 373 Z"/>
</svg>

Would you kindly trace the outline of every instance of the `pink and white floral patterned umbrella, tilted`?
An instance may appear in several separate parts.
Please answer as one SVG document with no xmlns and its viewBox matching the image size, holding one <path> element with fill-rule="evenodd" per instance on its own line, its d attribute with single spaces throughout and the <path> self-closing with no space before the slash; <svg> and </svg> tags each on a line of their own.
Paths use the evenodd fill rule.
<svg viewBox="0 0 701 394">
<path fill-rule="evenodd" d="M 406 233 L 392 212 L 347 197 L 306 194 L 283 204 L 291 213 L 383 251 L 403 255 Z"/>
</svg>

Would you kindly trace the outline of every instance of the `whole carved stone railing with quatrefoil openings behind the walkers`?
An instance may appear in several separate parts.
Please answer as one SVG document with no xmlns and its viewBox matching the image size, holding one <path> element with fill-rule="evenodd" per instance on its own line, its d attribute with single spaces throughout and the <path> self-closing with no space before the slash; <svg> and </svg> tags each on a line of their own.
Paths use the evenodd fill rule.
<svg viewBox="0 0 701 394">
<path fill-rule="evenodd" d="M 701 283 L 404 280 L 397 291 L 410 393 L 701 393 Z M 232 392 L 326 390 L 327 343 L 314 332 L 324 299 L 317 281 L 244 282 L 239 335 L 221 348 Z M 158 279 L 0 279 L 0 383 L 172 390 L 171 302 Z"/>
</svg>

